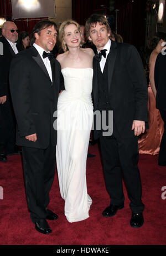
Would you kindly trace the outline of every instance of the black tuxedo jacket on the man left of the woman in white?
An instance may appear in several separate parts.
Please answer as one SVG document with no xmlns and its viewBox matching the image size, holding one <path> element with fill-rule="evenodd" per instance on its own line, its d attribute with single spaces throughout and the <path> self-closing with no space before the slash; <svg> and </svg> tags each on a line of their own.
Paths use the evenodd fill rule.
<svg viewBox="0 0 166 256">
<path fill-rule="evenodd" d="M 56 117 L 53 115 L 57 111 L 58 94 L 64 89 L 60 64 L 56 59 L 51 60 L 51 71 L 53 82 L 34 46 L 12 59 L 9 83 L 17 119 L 18 145 L 44 149 L 50 140 L 56 145 L 57 132 L 53 128 Z M 34 133 L 37 133 L 37 142 L 25 139 Z"/>
</svg>

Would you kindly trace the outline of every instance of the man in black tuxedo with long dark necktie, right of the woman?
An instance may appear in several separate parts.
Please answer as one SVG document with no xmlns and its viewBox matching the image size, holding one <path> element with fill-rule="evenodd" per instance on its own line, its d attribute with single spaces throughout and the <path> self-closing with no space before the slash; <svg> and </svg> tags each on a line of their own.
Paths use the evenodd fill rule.
<svg viewBox="0 0 166 256">
<path fill-rule="evenodd" d="M 109 129 L 107 135 L 102 129 L 94 131 L 94 138 L 100 138 L 106 188 L 111 197 L 110 206 L 102 215 L 112 217 L 124 207 L 122 169 L 131 200 L 130 224 L 141 227 L 144 204 L 137 167 L 137 136 L 144 132 L 148 116 L 142 61 L 135 47 L 109 39 L 111 30 L 104 16 L 92 14 L 86 22 L 86 33 L 98 52 L 94 57 L 94 111 L 105 112 L 108 123 L 113 111 L 113 134 Z"/>
</svg>

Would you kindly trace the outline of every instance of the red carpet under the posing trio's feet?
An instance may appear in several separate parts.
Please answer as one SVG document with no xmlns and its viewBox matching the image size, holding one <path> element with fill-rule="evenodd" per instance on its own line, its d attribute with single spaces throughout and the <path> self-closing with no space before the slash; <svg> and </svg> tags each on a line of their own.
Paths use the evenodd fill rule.
<svg viewBox="0 0 166 256">
<path fill-rule="evenodd" d="M 25 199 L 22 161 L 20 155 L 8 157 L 7 163 L 0 163 L 0 186 L 3 187 L 1 204 L 1 245 L 164 245 L 166 241 L 166 200 L 162 187 L 166 186 L 166 168 L 157 165 L 157 156 L 140 155 L 139 168 L 142 178 L 142 200 L 144 225 L 133 229 L 129 225 L 131 210 L 125 192 L 125 208 L 112 218 L 101 215 L 109 203 L 97 145 L 89 152 L 95 158 L 87 159 L 87 188 L 93 203 L 90 218 L 82 222 L 68 223 L 64 216 L 64 201 L 60 197 L 58 177 L 55 175 L 50 192 L 49 208 L 59 215 L 50 222 L 53 233 L 44 235 L 34 229 Z"/>
</svg>

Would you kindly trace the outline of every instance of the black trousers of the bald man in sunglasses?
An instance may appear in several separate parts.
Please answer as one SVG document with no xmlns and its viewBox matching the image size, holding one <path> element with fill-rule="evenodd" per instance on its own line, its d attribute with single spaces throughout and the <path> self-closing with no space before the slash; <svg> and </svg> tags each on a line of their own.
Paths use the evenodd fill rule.
<svg viewBox="0 0 166 256">
<path fill-rule="evenodd" d="M 12 103 L 0 104 L 0 153 L 9 154 L 15 151 L 15 117 Z"/>
</svg>

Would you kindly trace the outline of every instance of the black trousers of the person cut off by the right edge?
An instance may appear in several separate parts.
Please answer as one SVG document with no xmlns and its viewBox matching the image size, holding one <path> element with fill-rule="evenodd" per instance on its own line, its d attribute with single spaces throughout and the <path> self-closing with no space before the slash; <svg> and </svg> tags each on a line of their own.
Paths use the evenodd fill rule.
<svg viewBox="0 0 166 256">
<path fill-rule="evenodd" d="M 164 122 L 164 133 L 163 133 L 162 141 L 160 143 L 158 163 L 160 165 L 166 165 L 166 111 L 162 111 L 160 109 L 160 114 Z"/>
</svg>

